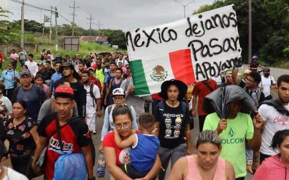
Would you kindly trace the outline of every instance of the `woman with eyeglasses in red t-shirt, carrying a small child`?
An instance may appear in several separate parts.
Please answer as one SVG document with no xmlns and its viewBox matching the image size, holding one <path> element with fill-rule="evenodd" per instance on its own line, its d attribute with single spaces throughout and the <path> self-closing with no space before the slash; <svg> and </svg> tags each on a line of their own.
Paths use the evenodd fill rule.
<svg viewBox="0 0 289 180">
<path fill-rule="evenodd" d="M 133 130 L 133 117 L 131 110 L 126 105 L 120 105 L 113 110 L 113 123 L 122 140 L 128 139 L 132 134 L 141 133 L 139 130 Z M 153 136 L 153 135 L 152 135 Z M 129 164 L 130 147 L 121 149 L 117 146 L 115 141 L 114 132 L 106 134 L 103 140 L 103 154 L 106 162 L 107 169 L 110 171 L 111 179 L 131 179 L 120 168 L 121 165 Z M 125 166 L 126 167 L 126 166 Z M 157 156 L 152 169 L 147 173 L 144 178 L 140 179 L 153 179 L 156 177 L 161 167 L 160 158 Z"/>
</svg>

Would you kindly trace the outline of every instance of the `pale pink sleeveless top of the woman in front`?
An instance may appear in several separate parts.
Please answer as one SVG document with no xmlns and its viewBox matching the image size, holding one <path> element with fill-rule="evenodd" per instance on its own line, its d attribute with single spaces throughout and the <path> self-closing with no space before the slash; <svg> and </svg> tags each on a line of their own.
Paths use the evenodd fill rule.
<svg viewBox="0 0 289 180">
<path fill-rule="evenodd" d="M 199 168 L 197 166 L 197 163 L 195 161 L 195 155 L 192 156 L 186 156 L 188 160 L 188 175 L 184 180 L 203 180 Z M 225 175 L 225 164 L 226 161 L 222 158 L 218 158 L 216 170 L 214 173 L 214 177 L 212 180 L 226 180 Z"/>
</svg>

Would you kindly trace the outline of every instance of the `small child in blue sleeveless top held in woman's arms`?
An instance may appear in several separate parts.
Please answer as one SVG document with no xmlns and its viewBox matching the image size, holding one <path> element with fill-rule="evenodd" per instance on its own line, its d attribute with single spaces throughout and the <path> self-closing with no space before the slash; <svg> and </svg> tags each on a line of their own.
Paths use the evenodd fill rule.
<svg viewBox="0 0 289 180">
<path fill-rule="evenodd" d="M 146 176 L 155 163 L 160 141 L 154 136 L 154 128 L 154 116 L 150 113 L 142 113 L 139 116 L 138 125 L 141 133 L 132 134 L 122 141 L 118 131 L 114 129 L 117 146 L 119 148 L 132 147 L 130 164 L 122 165 L 120 168 L 133 179 Z"/>
</svg>

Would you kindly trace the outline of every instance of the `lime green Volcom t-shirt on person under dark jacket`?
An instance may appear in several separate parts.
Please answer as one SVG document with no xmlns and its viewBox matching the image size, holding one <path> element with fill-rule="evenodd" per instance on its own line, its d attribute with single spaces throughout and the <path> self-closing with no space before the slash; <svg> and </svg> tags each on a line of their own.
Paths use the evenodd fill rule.
<svg viewBox="0 0 289 180">
<path fill-rule="evenodd" d="M 216 113 L 207 115 L 203 130 L 215 130 L 220 117 Z M 245 140 L 253 138 L 254 126 L 248 114 L 239 112 L 235 119 L 227 119 L 227 129 L 219 134 L 222 141 L 220 157 L 231 162 L 236 178 L 246 176 Z"/>
</svg>

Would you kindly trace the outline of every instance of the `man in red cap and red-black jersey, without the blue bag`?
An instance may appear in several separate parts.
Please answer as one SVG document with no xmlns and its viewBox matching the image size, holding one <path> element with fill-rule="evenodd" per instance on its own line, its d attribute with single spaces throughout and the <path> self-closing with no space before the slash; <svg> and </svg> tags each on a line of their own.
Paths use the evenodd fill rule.
<svg viewBox="0 0 289 180">
<path fill-rule="evenodd" d="M 35 162 L 42 150 L 47 147 L 45 176 L 48 180 L 52 180 L 55 162 L 60 157 L 60 154 L 54 150 L 61 150 L 64 153 L 71 151 L 73 154 L 83 153 L 88 179 L 93 180 L 95 177 L 93 177 L 93 159 L 90 147 L 92 140 L 86 123 L 78 117 L 73 117 L 71 113 L 71 109 L 76 105 L 73 88 L 59 86 L 55 89 L 54 95 L 57 112 L 46 115 L 38 126 L 37 131 L 40 137 L 32 168 L 35 172 L 38 172 Z M 59 132 L 57 132 L 57 124 L 59 125 Z M 61 136 L 58 137 L 58 134 Z"/>
</svg>

